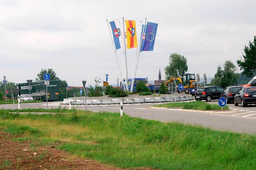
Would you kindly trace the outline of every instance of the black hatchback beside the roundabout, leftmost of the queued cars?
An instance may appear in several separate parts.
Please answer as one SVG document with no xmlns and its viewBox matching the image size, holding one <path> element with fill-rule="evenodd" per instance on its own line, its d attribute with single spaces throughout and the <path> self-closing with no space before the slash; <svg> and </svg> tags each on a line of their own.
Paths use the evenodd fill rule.
<svg viewBox="0 0 256 170">
<path fill-rule="evenodd" d="M 195 93 L 195 100 L 211 101 L 215 99 L 220 99 L 223 91 L 224 89 L 219 86 L 199 87 Z"/>
</svg>

